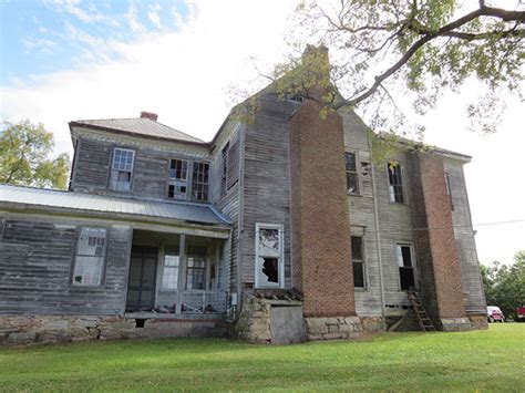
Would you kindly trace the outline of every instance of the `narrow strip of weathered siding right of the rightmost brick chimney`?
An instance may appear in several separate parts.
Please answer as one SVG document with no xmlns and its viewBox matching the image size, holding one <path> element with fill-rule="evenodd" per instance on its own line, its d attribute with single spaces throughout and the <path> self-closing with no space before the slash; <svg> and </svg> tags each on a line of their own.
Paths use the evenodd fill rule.
<svg viewBox="0 0 525 393">
<path fill-rule="evenodd" d="M 449 174 L 452 204 L 454 206 L 452 220 L 454 223 L 466 311 L 484 313 L 486 310 L 485 294 L 480 275 L 463 164 L 454 159 L 445 159 L 444 165 L 445 172 Z"/>
</svg>

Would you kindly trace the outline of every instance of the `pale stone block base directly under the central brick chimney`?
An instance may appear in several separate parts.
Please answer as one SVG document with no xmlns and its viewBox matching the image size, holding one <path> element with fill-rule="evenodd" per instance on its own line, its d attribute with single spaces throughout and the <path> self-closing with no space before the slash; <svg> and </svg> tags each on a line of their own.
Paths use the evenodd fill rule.
<svg viewBox="0 0 525 393">
<path fill-rule="evenodd" d="M 361 335 L 359 317 L 305 318 L 308 340 L 348 340 Z"/>
</svg>

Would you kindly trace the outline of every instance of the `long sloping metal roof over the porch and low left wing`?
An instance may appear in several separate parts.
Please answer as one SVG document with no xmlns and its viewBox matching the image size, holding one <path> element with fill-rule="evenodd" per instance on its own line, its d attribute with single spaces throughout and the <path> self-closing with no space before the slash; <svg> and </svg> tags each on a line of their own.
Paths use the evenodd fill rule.
<svg viewBox="0 0 525 393">
<path fill-rule="evenodd" d="M 138 199 L 0 184 L 0 209 L 69 210 L 104 216 L 176 220 L 229 227 L 230 221 L 212 205 L 189 201 Z"/>
</svg>

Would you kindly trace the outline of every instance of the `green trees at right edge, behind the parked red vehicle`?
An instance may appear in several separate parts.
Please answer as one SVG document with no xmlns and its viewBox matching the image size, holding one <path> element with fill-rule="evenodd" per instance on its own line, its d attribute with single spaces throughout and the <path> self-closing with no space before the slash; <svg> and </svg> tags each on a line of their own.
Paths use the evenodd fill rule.
<svg viewBox="0 0 525 393">
<path fill-rule="evenodd" d="M 498 306 L 505 317 L 516 319 L 516 308 L 525 306 L 525 251 L 514 256 L 514 263 L 480 266 L 488 306 Z"/>
</svg>

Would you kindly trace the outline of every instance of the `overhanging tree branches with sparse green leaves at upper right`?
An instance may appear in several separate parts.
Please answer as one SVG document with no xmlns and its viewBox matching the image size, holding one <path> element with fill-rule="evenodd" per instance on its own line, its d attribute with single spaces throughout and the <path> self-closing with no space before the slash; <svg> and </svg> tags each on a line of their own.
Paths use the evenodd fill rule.
<svg viewBox="0 0 525 393">
<path fill-rule="evenodd" d="M 360 106 L 379 132 L 414 124 L 402 110 L 408 101 L 424 114 L 444 92 L 471 83 L 480 90 L 465 105 L 475 130 L 495 131 L 507 93 L 523 100 L 522 1 L 306 0 L 290 42 L 297 52 L 307 43 L 328 48 L 331 64 L 291 55 L 265 75 L 278 93 L 308 96 L 321 85 L 327 108 Z"/>
</svg>

